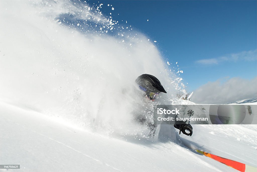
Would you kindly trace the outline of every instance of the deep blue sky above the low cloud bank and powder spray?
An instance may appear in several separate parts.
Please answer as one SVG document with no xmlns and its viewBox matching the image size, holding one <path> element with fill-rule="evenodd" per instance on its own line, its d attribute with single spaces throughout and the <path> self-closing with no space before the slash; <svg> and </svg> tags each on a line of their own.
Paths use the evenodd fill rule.
<svg viewBox="0 0 257 172">
<path fill-rule="evenodd" d="M 163 58 L 174 66 L 178 62 L 188 91 L 207 82 L 233 77 L 250 80 L 257 75 L 256 1 L 88 3 L 111 4 L 115 20 L 127 21 L 156 40 Z"/>
</svg>

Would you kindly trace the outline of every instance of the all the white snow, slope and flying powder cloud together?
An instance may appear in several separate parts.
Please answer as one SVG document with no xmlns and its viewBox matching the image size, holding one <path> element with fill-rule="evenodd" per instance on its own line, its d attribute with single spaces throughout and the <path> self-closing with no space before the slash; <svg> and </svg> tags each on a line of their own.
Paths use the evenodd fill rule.
<svg viewBox="0 0 257 172">
<path fill-rule="evenodd" d="M 182 79 L 148 38 L 121 34 L 122 25 L 92 9 L 79 1 L 0 1 L 0 164 L 20 165 L 8 171 L 237 171 L 184 142 L 257 166 L 256 125 L 195 125 L 191 137 L 163 126 L 158 140 L 131 124 L 137 76 L 161 80 L 168 93 L 158 104 L 181 103 Z M 83 25 L 88 18 L 96 27 Z"/>
</svg>

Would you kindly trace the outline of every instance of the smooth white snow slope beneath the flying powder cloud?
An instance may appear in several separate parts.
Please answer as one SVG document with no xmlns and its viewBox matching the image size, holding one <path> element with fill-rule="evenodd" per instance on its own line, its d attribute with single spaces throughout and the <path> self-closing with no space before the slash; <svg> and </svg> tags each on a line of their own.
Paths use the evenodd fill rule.
<svg viewBox="0 0 257 172">
<path fill-rule="evenodd" d="M 20 164 L 19 170 L 8 171 L 236 171 L 187 149 L 179 141 L 104 137 L 3 102 L 0 114 L 0 162 Z M 256 126 L 239 127 L 247 138 L 242 141 L 212 127 L 194 127 L 191 138 L 196 145 L 256 166 Z M 254 137 L 248 130 L 253 130 Z"/>
</svg>

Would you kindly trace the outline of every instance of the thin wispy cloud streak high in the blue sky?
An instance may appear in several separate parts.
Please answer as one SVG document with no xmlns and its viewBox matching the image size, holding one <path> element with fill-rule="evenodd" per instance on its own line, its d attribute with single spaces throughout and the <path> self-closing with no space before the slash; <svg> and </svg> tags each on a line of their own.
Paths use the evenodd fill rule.
<svg viewBox="0 0 257 172">
<path fill-rule="evenodd" d="M 240 53 L 232 53 L 225 56 L 217 57 L 217 58 L 211 58 L 211 59 L 202 59 L 197 60 L 196 63 L 200 64 L 218 64 L 224 61 L 253 61 L 257 59 L 257 50 L 251 50 L 251 51 L 243 51 Z"/>
</svg>

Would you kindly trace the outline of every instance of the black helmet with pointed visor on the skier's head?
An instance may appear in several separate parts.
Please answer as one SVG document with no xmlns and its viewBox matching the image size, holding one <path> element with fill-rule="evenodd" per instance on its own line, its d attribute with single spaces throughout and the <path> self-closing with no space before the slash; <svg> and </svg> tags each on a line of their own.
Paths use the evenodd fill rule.
<svg viewBox="0 0 257 172">
<path fill-rule="evenodd" d="M 139 88 L 146 93 L 167 93 L 162 87 L 161 82 L 153 75 L 142 74 L 137 77 L 136 83 L 139 85 Z"/>
</svg>

